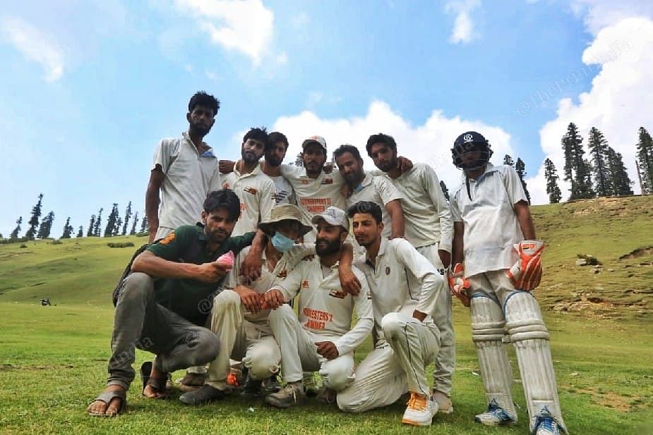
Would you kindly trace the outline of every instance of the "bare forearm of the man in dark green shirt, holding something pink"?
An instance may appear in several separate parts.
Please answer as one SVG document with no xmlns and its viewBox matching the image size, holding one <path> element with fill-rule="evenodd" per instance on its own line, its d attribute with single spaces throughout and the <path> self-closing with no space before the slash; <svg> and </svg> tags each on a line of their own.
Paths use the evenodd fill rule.
<svg viewBox="0 0 653 435">
<path fill-rule="evenodd" d="M 131 264 L 131 271 L 156 278 L 188 278 L 205 283 L 220 281 L 227 271 L 216 262 L 204 264 L 176 263 L 144 251 Z"/>
</svg>

